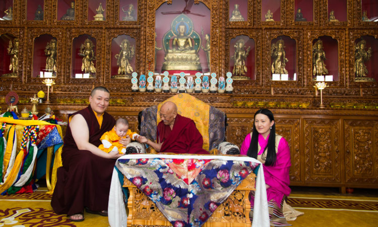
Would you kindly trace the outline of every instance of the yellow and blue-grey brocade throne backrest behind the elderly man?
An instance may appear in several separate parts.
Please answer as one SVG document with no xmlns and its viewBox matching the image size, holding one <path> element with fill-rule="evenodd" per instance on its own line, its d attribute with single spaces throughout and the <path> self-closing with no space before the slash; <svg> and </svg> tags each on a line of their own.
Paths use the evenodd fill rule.
<svg viewBox="0 0 378 227">
<path fill-rule="evenodd" d="M 205 150 L 217 148 L 219 143 L 225 140 L 225 113 L 186 93 L 177 94 L 158 105 L 144 109 L 140 122 L 142 136 L 156 141 L 156 127 L 161 121 L 158 109 L 166 101 L 174 102 L 179 115 L 190 118 L 196 123 L 204 140 Z"/>
</svg>

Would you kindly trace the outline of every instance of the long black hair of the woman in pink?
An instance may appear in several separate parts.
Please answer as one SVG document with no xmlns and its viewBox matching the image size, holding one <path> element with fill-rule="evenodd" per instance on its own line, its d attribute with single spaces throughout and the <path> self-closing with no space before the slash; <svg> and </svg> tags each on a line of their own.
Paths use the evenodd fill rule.
<svg viewBox="0 0 378 227">
<path fill-rule="evenodd" d="M 259 113 L 266 115 L 271 122 L 274 121 L 273 113 L 269 109 L 259 109 L 255 113 L 254 129 L 252 131 L 252 138 L 250 140 L 250 144 L 249 144 L 249 148 L 248 148 L 248 152 L 247 152 L 247 155 L 249 157 L 253 157 L 253 158 L 257 158 L 257 154 L 259 152 L 258 151 L 259 133 L 258 133 L 256 126 L 255 126 L 256 115 L 258 115 Z M 265 165 L 274 165 L 274 163 L 276 162 L 276 159 L 277 159 L 277 155 L 276 155 L 276 124 L 273 124 L 272 129 L 270 130 L 268 145 L 265 148 L 265 150 L 267 148 L 268 148 L 268 152 L 267 152 L 267 156 L 266 156 L 266 160 L 265 160 Z"/>
</svg>

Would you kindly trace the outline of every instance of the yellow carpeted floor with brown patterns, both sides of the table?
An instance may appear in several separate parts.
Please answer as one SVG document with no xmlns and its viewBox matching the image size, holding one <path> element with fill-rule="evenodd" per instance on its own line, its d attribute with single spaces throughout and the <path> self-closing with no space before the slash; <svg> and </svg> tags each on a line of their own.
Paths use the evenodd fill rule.
<svg viewBox="0 0 378 227">
<path fill-rule="evenodd" d="M 32 194 L 0 196 L 0 226 L 108 226 L 107 217 L 85 213 L 83 222 L 56 215 L 43 188 Z M 291 194 L 295 209 L 304 212 L 293 226 L 378 226 L 378 197 Z"/>
</svg>

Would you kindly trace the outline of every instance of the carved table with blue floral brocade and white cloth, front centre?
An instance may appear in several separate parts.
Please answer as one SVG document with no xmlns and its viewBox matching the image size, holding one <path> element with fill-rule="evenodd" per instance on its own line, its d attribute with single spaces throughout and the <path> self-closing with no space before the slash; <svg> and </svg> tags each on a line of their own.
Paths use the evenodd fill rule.
<svg viewBox="0 0 378 227">
<path fill-rule="evenodd" d="M 269 226 L 263 165 L 254 158 L 242 155 L 124 155 L 116 161 L 112 175 L 109 224 L 250 226 L 248 193 L 254 190 L 255 174 L 252 226 Z M 130 191 L 129 216 L 122 185 Z M 237 200 L 242 205 L 234 204 Z M 150 212 L 151 209 L 160 212 Z M 141 218 L 142 212 L 150 216 Z M 224 222 L 219 213 L 230 215 L 233 223 Z"/>
</svg>

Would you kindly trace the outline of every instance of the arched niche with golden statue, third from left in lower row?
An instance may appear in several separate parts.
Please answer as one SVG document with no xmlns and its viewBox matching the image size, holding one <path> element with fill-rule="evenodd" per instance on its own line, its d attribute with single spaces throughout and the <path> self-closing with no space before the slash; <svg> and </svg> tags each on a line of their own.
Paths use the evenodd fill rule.
<svg viewBox="0 0 378 227">
<path fill-rule="evenodd" d="M 71 77 L 95 78 L 96 77 L 96 39 L 83 34 L 72 41 Z"/>
</svg>

